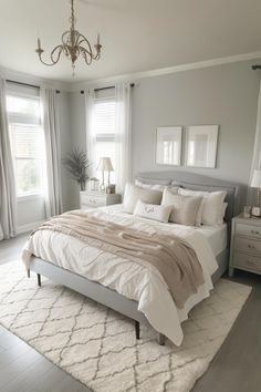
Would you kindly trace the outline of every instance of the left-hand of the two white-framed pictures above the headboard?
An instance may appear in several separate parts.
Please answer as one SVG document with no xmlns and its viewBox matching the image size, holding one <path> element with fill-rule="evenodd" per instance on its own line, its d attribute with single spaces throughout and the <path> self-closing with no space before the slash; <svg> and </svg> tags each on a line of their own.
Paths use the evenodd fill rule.
<svg viewBox="0 0 261 392">
<path fill-rule="evenodd" d="M 156 164 L 180 166 L 182 126 L 159 126 L 156 131 Z"/>
</svg>

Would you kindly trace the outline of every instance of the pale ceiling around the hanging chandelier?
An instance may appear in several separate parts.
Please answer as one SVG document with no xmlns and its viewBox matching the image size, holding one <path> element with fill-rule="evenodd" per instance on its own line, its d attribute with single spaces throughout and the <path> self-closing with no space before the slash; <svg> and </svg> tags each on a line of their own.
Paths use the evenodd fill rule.
<svg viewBox="0 0 261 392">
<path fill-rule="evenodd" d="M 102 59 L 91 66 L 42 65 L 69 27 L 69 0 L 0 0 L 0 65 L 74 82 L 160 69 L 261 50 L 261 0 L 75 0 L 76 28 Z M 45 58 L 48 60 L 48 58 Z"/>
</svg>

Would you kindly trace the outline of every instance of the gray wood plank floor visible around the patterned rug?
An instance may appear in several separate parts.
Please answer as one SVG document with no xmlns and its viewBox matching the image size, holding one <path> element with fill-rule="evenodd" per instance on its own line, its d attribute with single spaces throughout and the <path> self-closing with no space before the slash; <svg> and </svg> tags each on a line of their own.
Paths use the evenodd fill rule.
<svg viewBox="0 0 261 392">
<path fill-rule="evenodd" d="M 19 236 L 1 241 L 0 264 L 18 259 L 25 238 Z M 261 276 L 236 274 L 233 280 L 253 286 L 252 293 L 210 368 L 192 392 L 261 391 Z M 1 327 L 0 391 L 90 392 L 85 385 Z"/>
</svg>

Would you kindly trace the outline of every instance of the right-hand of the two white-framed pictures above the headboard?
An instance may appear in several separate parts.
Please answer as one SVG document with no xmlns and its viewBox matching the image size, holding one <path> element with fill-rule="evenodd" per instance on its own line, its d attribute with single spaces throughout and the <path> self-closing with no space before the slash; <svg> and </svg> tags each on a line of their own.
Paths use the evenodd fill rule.
<svg viewBox="0 0 261 392">
<path fill-rule="evenodd" d="M 216 167 L 219 125 L 190 125 L 186 128 L 185 165 Z"/>
</svg>

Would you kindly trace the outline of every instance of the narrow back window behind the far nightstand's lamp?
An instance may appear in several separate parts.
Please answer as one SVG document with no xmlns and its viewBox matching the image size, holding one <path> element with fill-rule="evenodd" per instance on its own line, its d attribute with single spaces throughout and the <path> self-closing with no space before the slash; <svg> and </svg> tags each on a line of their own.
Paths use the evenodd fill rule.
<svg viewBox="0 0 261 392">
<path fill-rule="evenodd" d="M 116 102 L 114 89 L 109 89 L 109 95 L 101 96 L 96 93 L 93 106 L 93 126 L 94 126 L 94 168 L 96 169 L 100 158 L 107 156 L 111 158 L 113 167 L 115 169 L 115 122 L 116 122 Z M 103 94 L 104 95 L 104 94 Z M 97 172 L 96 176 L 102 180 L 102 173 Z M 107 178 L 105 177 L 105 182 Z M 109 182 L 115 183 L 115 172 L 109 174 Z"/>
</svg>

